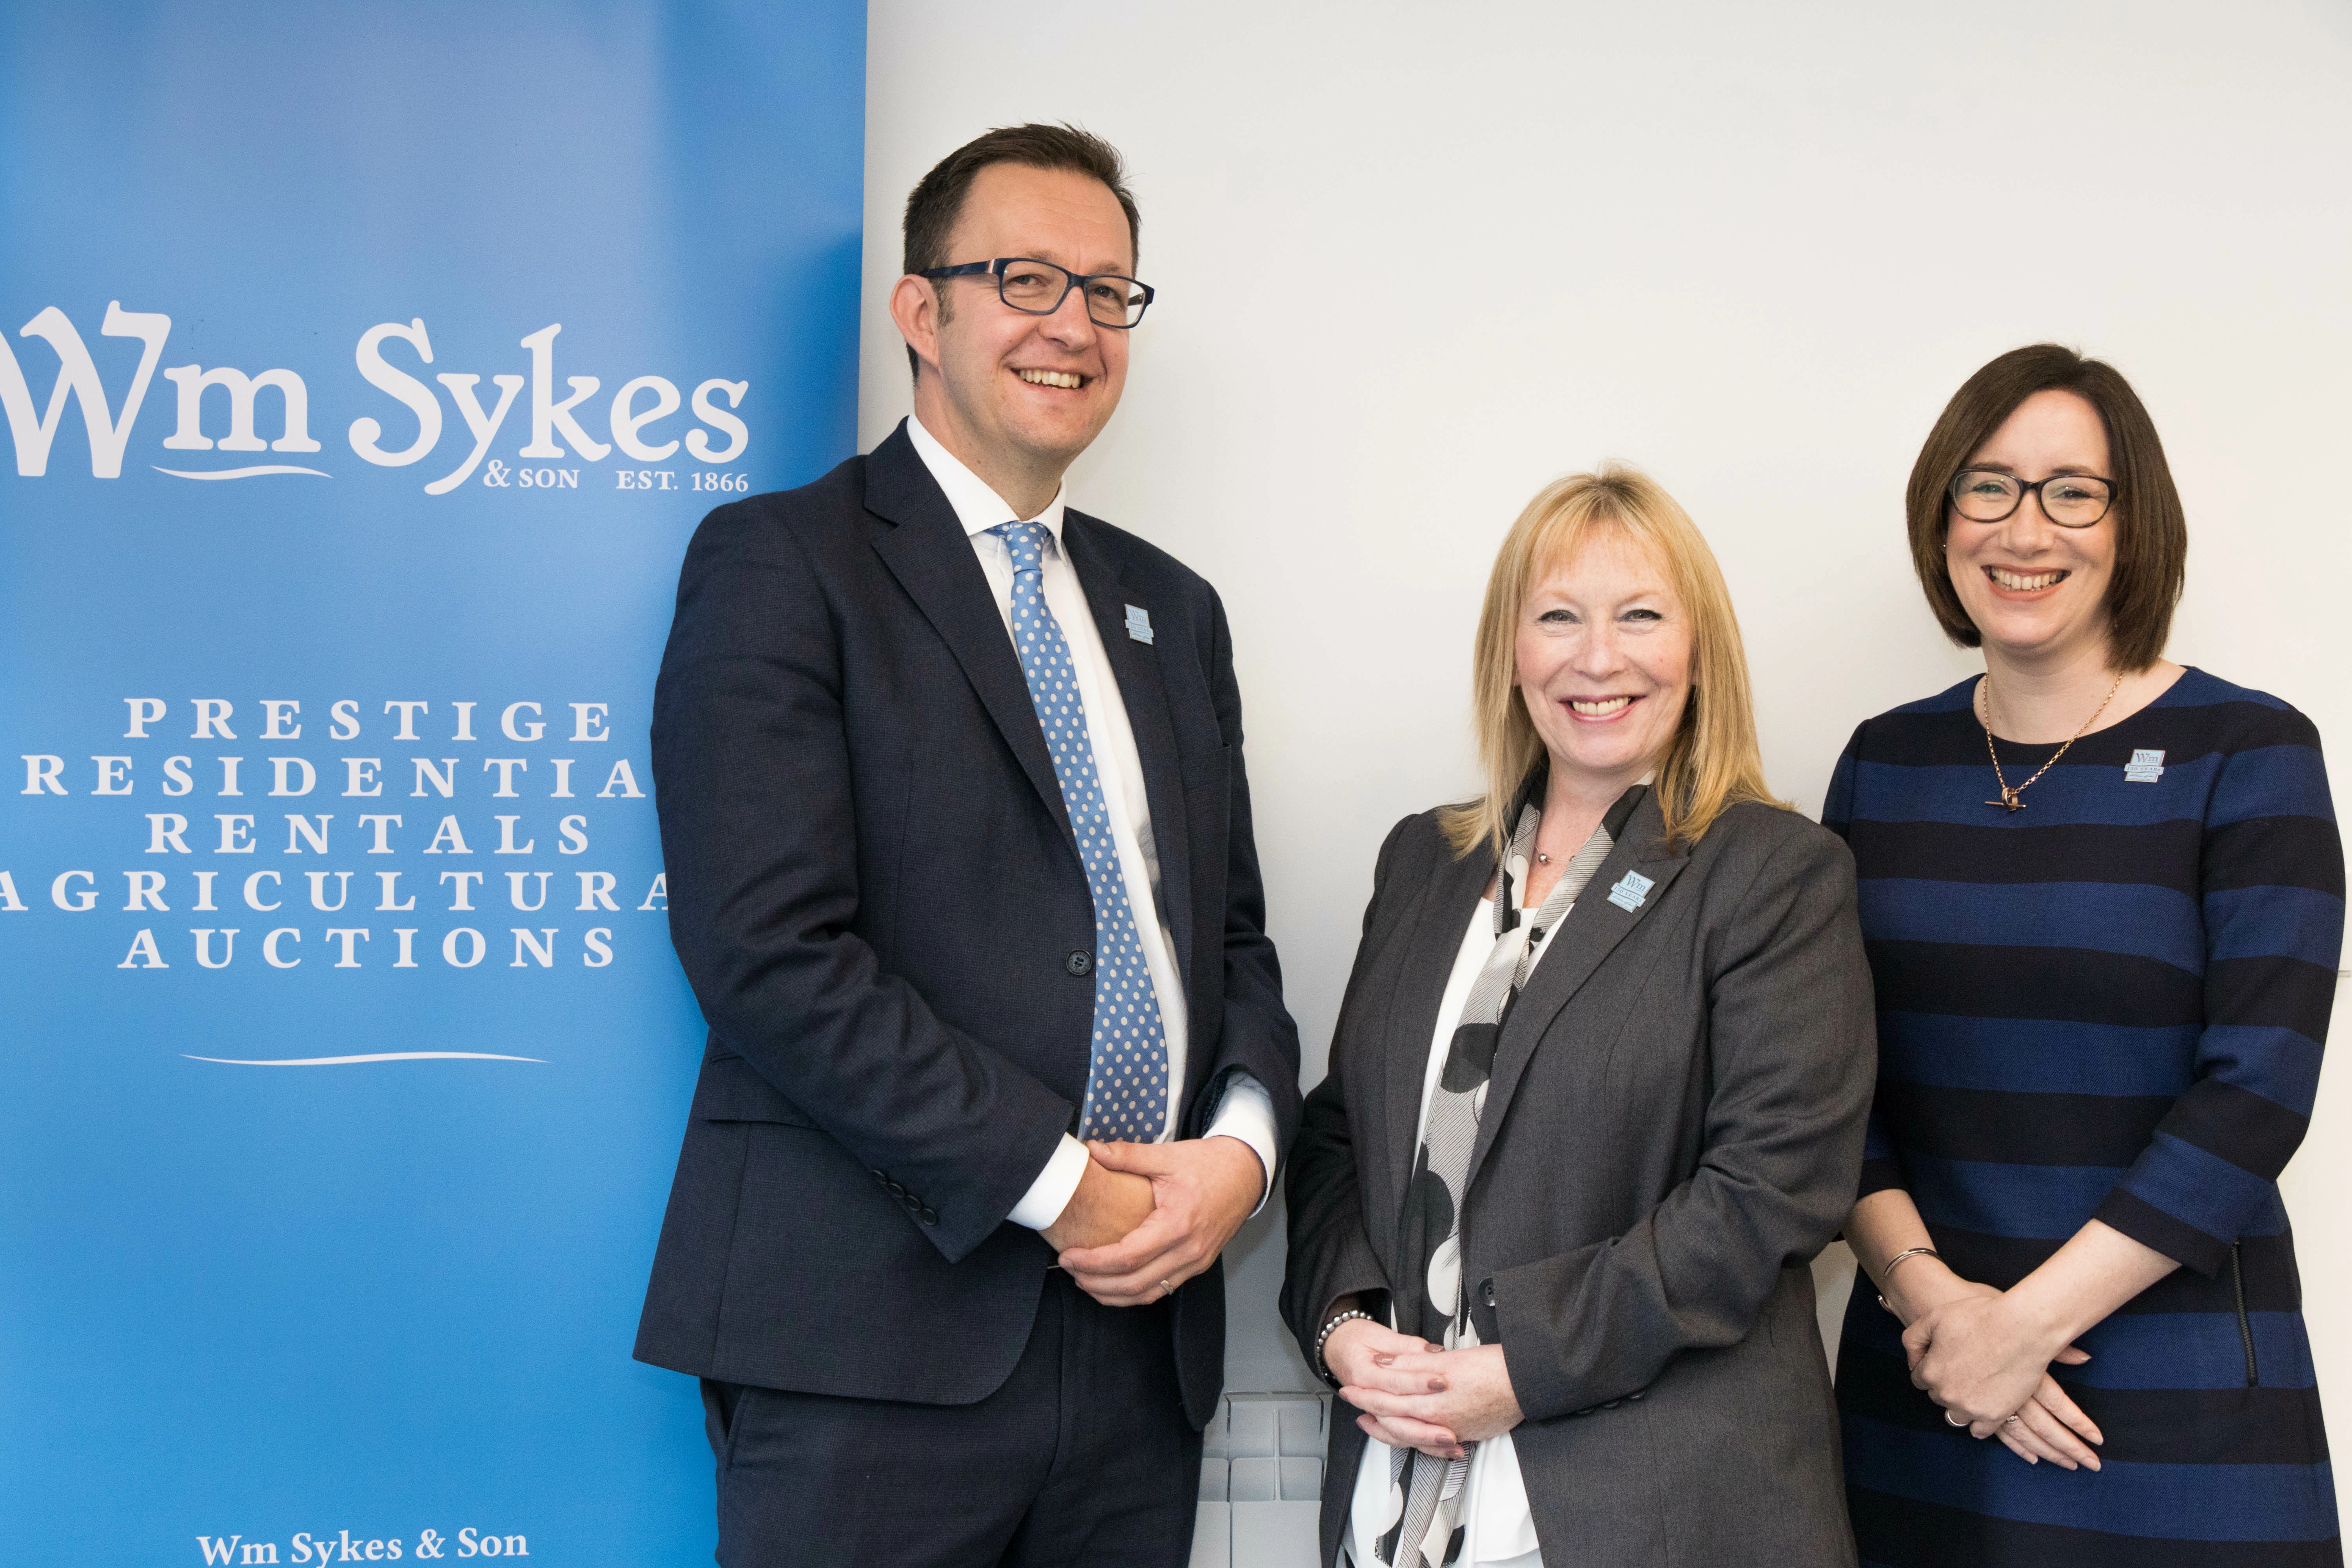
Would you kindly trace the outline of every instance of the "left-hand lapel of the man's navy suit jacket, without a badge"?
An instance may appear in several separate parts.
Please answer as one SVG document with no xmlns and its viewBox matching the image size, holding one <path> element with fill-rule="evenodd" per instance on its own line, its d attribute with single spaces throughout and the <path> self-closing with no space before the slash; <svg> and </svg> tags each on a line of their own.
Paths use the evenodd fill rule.
<svg viewBox="0 0 2352 1568">
<path fill-rule="evenodd" d="M 1054 778 L 1054 757 L 1044 750 L 1044 726 L 1014 656 L 1014 639 L 1004 635 L 1004 616 L 988 592 L 988 576 L 955 508 L 922 465 L 906 425 L 866 458 L 866 510 L 896 524 L 875 538 L 875 552 L 964 668 L 964 679 L 1075 853 L 1070 809 L 1061 799 L 1061 780 Z"/>
</svg>

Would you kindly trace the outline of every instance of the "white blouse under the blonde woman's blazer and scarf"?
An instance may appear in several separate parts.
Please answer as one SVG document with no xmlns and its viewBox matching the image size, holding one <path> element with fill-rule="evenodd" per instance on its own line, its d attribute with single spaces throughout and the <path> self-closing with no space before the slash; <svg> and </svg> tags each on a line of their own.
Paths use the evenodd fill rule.
<svg viewBox="0 0 2352 1568">
<path fill-rule="evenodd" d="M 1526 910 L 1526 863 L 1519 858 L 1512 858 L 1510 886 L 1522 900 L 1519 907 Z M 1559 922 L 1552 922 L 1552 931 L 1557 929 Z M 1536 964 L 1550 950 L 1552 931 L 1545 931 L 1543 940 L 1536 943 Z M 1421 1117 L 1414 1121 L 1416 1145 L 1428 1131 L 1430 1098 L 1437 1093 L 1437 1079 L 1444 1077 L 1454 1030 L 1461 1025 L 1463 1006 L 1470 1001 L 1470 983 L 1477 980 L 1491 952 L 1494 900 L 1482 898 L 1470 914 L 1470 929 L 1463 931 L 1463 945 L 1454 954 L 1454 973 L 1446 978 L 1444 999 L 1437 1004 L 1430 1063 L 1421 1074 Z M 1390 1328 L 1397 1326 L 1395 1305 L 1388 1309 L 1388 1321 Z M 1477 1345 L 1477 1331 L 1465 1326 L 1461 1342 Z M 1392 1488 L 1388 1481 L 1392 1453 L 1388 1443 L 1371 1441 L 1364 1446 L 1364 1462 L 1355 1472 L 1355 1500 L 1348 1507 L 1348 1537 L 1343 1544 L 1357 1568 L 1374 1568 L 1371 1542 L 1395 1523 Z M 1508 1432 L 1477 1446 L 1477 1453 L 1470 1455 L 1470 1474 L 1463 1481 L 1463 1490 L 1468 1500 L 1463 1502 L 1461 1521 L 1468 1526 L 1468 1535 L 1463 1537 L 1458 1568 L 1543 1568 L 1543 1552 L 1536 1544 L 1536 1516 L 1526 1507 L 1526 1481 L 1519 1479 L 1519 1453 L 1512 1448 Z"/>
</svg>

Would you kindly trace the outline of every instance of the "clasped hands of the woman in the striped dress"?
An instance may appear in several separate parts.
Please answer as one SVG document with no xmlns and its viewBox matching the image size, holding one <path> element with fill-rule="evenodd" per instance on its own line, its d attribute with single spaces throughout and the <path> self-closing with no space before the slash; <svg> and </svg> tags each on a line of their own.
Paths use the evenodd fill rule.
<svg viewBox="0 0 2352 1568">
<path fill-rule="evenodd" d="M 1903 1331 L 1912 1387 L 1926 1389 L 1947 1422 L 1966 1418 L 1969 1436 L 1999 1436 L 2027 1465 L 2098 1469 L 2091 1443 L 2105 1436 L 2049 1373 L 2053 1361 L 2082 1366 L 2089 1352 L 2030 1321 L 2009 1293 L 1962 1279 L 1933 1258 L 1912 1272 L 1919 1279 L 1903 1281 L 1903 1300 L 1915 1307 Z"/>
</svg>

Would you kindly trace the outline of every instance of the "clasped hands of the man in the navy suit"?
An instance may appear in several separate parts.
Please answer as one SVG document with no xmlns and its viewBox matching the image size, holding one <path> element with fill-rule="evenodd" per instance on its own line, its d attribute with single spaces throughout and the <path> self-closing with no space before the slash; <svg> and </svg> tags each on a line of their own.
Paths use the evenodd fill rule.
<svg viewBox="0 0 2352 1568">
<path fill-rule="evenodd" d="M 1143 1307 L 1225 1251 L 1258 1206 L 1265 1166 L 1240 1138 L 1089 1143 L 1087 1173 L 1047 1244 L 1105 1307 Z"/>
</svg>

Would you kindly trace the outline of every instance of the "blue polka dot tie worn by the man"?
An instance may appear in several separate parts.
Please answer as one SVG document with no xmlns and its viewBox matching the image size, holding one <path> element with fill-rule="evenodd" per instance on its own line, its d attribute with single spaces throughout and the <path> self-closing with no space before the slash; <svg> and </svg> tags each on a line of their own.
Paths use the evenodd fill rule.
<svg viewBox="0 0 2352 1568">
<path fill-rule="evenodd" d="M 1087 703 L 1077 693 L 1077 670 L 1061 623 L 1044 607 L 1042 522 L 1007 522 L 988 529 L 1014 555 L 1014 651 L 1028 677 L 1044 745 L 1054 755 L 1054 778 L 1070 809 L 1077 858 L 1094 893 L 1094 1060 L 1087 1070 L 1087 1107 L 1080 1138 L 1155 1143 L 1167 1131 L 1169 1048 L 1160 1030 L 1160 994 L 1143 966 L 1143 938 L 1127 903 L 1120 846 L 1103 809 L 1103 780 L 1094 771 L 1087 736 Z"/>
</svg>

